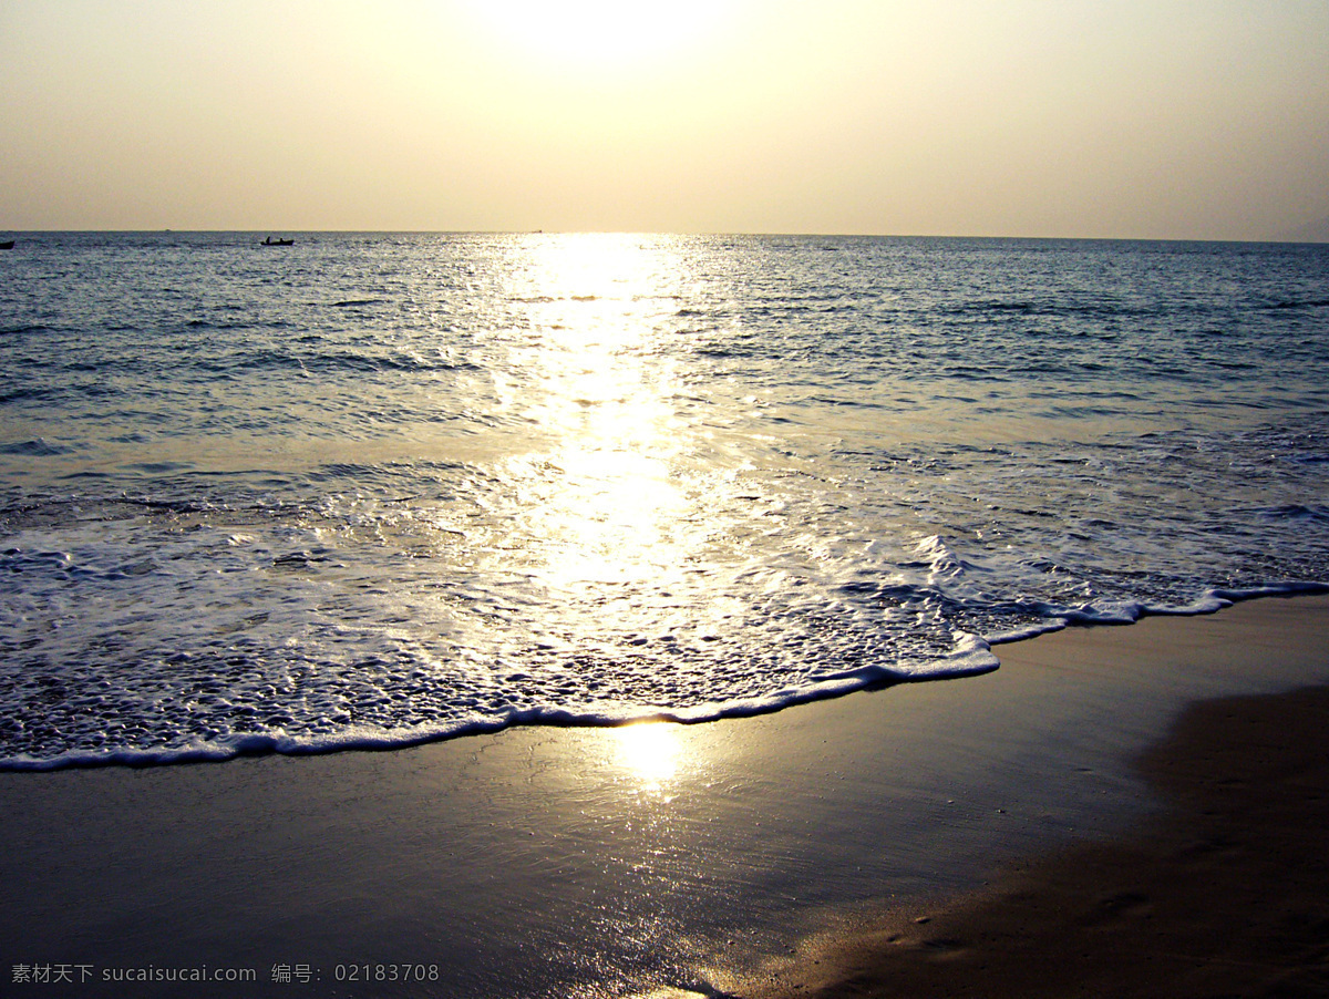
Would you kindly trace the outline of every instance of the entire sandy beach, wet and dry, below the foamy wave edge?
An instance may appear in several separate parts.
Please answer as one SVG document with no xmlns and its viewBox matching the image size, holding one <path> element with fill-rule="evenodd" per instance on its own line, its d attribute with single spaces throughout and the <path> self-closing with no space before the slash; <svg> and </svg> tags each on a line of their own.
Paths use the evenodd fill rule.
<svg viewBox="0 0 1329 999">
<path fill-rule="evenodd" d="M 7 994 L 1322 994 L 1326 615 L 696 725 L 4 773 Z"/>
</svg>

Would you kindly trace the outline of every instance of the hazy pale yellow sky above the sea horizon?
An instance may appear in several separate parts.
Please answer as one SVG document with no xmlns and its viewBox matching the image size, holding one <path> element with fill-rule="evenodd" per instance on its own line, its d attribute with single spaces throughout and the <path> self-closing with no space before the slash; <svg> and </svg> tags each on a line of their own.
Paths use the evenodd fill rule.
<svg viewBox="0 0 1329 999">
<path fill-rule="evenodd" d="M 0 230 L 1329 240 L 1325 0 L 0 0 Z"/>
</svg>

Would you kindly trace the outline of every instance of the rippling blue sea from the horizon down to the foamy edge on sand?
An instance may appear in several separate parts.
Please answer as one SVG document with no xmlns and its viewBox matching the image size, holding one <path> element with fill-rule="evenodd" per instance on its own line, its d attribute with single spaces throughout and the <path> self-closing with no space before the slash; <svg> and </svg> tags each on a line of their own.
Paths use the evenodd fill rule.
<svg viewBox="0 0 1329 999">
<path fill-rule="evenodd" d="M 259 243 L 0 255 L 0 767 L 704 720 L 1329 582 L 1329 246 Z"/>
</svg>

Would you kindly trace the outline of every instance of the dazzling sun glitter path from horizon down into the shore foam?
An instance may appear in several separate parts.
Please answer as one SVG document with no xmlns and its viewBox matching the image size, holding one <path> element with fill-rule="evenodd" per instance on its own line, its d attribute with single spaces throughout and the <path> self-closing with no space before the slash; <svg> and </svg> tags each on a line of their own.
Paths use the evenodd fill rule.
<svg viewBox="0 0 1329 999">
<path fill-rule="evenodd" d="M 724 485 L 696 476 L 703 437 L 680 413 L 691 399 L 678 318 L 687 240 L 565 234 L 502 246 L 513 314 L 494 391 L 525 446 L 498 472 L 520 514 L 496 558 L 540 590 L 529 624 L 549 648 L 582 648 L 575 668 L 639 668 L 627 659 L 658 662 L 679 634 L 731 612 L 730 591 L 698 571 Z"/>
</svg>

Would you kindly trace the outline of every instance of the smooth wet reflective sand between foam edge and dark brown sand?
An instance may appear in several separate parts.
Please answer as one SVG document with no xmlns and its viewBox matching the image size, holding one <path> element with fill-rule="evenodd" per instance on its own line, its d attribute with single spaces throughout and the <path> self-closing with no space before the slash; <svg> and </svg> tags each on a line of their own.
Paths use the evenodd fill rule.
<svg viewBox="0 0 1329 999">
<path fill-rule="evenodd" d="M 1130 759 L 1187 704 L 1329 681 L 1326 624 L 1329 598 L 1271 596 L 736 720 L 0 773 L 0 958 L 259 975 L 189 984 L 218 999 L 747 998 L 882 901 L 971 898 L 1003 863 L 1154 821 Z M 439 978 L 344 978 L 407 963 Z"/>
</svg>

